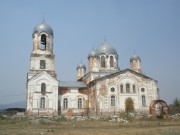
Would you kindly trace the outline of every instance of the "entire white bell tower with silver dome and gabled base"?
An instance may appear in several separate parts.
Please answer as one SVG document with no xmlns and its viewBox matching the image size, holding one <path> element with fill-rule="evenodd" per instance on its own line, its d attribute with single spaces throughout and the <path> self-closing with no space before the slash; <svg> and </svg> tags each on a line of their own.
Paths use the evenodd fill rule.
<svg viewBox="0 0 180 135">
<path fill-rule="evenodd" d="M 27 75 L 26 113 L 32 116 L 58 115 L 58 85 L 53 54 L 53 30 L 41 22 L 33 29 L 30 70 Z"/>
</svg>

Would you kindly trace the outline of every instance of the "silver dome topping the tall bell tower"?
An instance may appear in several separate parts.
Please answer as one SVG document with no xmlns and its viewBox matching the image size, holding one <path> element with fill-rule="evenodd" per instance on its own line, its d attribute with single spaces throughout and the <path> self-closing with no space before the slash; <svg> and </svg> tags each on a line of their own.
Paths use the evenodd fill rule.
<svg viewBox="0 0 180 135">
<path fill-rule="evenodd" d="M 51 26 L 49 26 L 44 21 L 34 27 L 33 34 L 36 33 L 36 32 L 39 32 L 39 33 L 40 32 L 46 32 L 46 33 L 48 33 L 48 34 L 53 36 L 53 30 L 52 30 Z"/>
</svg>

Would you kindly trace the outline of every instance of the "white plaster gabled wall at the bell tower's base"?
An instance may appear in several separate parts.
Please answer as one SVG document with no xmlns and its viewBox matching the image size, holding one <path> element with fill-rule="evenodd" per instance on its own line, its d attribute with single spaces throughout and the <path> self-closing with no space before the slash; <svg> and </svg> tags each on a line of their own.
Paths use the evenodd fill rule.
<svg viewBox="0 0 180 135">
<path fill-rule="evenodd" d="M 46 84 L 46 94 L 41 94 L 41 83 Z M 58 110 L 58 81 L 46 72 L 36 75 L 27 84 L 27 111 L 50 111 Z M 40 110 L 40 99 L 45 98 L 45 109 Z"/>
</svg>

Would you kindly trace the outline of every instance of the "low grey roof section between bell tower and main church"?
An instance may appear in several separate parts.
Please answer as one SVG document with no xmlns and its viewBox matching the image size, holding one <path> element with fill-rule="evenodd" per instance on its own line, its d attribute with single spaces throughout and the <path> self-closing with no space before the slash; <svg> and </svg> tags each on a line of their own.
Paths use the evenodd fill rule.
<svg viewBox="0 0 180 135">
<path fill-rule="evenodd" d="M 87 88 L 86 84 L 80 81 L 60 81 L 59 86 L 62 88 Z"/>
</svg>

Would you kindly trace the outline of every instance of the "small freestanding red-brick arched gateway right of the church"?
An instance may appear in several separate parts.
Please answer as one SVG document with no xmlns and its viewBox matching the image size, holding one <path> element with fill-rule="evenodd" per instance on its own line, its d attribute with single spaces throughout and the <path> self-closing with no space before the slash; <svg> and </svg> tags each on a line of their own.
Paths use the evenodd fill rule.
<svg viewBox="0 0 180 135">
<path fill-rule="evenodd" d="M 163 118 L 167 118 L 169 114 L 168 106 L 163 100 L 153 100 L 150 104 L 149 111 L 153 117 L 162 116 Z"/>
</svg>

